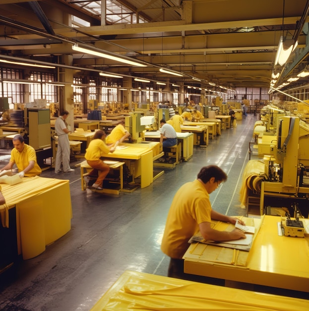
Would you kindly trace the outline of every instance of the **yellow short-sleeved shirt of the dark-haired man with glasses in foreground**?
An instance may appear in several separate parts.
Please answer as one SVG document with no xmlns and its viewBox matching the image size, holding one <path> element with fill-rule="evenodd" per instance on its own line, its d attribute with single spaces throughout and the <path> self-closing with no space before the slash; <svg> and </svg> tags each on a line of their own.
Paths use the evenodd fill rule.
<svg viewBox="0 0 309 311">
<path fill-rule="evenodd" d="M 171 258 L 182 259 L 189 246 L 188 240 L 203 222 L 211 222 L 211 204 L 205 187 L 195 179 L 185 183 L 173 199 L 161 250 Z"/>
</svg>

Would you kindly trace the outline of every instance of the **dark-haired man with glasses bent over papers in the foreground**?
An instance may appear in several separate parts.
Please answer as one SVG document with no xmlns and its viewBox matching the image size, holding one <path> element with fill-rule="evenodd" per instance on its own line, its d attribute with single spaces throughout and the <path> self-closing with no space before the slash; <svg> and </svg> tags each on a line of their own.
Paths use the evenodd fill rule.
<svg viewBox="0 0 309 311">
<path fill-rule="evenodd" d="M 220 167 L 204 166 L 197 179 L 185 183 L 174 196 L 161 244 L 161 250 L 170 257 L 169 277 L 193 280 L 190 274 L 184 273 L 183 256 L 189 246 L 188 240 L 198 231 L 205 240 L 227 241 L 246 237 L 239 229 L 227 232 L 211 227 L 212 220 L 234 225 L 237 220 L 214 211 L 209 200 L 210 193 L 226 180 L 227 175 Z"/>
</svg>

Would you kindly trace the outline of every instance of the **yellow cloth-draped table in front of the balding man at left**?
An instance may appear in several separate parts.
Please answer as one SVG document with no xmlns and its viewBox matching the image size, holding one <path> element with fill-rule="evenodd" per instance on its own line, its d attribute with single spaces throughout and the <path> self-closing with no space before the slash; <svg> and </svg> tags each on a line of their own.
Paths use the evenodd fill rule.
<svg viewBox="0 0 309 311">
<path fill-rule="evenodd" d="M 6 206 L 0 206 L 2 226 L 16 225 L 17 252 L 23 259 L 41 254 L 46 245 L 70 231 L 72 207 L 68 180 L 23 177 L 21 183 L 1 183 L 1 188 L 6 201 Z M 9 219 L 9 210 L 13 208 L 16 208 L 16 219 Z"/>
</svg>

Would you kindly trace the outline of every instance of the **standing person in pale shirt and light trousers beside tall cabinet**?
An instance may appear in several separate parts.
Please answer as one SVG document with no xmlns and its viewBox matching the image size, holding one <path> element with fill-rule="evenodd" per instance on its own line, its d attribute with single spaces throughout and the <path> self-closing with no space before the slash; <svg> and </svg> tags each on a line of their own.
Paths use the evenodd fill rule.
<svg viewBox="0 0 309 311">
<path fill-rule="evenodd" d="M 74 169 L 70 167 L 70 143 L 68 140 L 68 133 L 71 131 L 67 128 L 65 119 L 68 116 L 68 111 L 62 111 L 61 115 L 56 119 L 55 131 L 58 135 L 58 148 L 56 154 L 55 173 L 74 172 Z M 62 163 L 62 169 L 61 169 Z"/>
</svg>

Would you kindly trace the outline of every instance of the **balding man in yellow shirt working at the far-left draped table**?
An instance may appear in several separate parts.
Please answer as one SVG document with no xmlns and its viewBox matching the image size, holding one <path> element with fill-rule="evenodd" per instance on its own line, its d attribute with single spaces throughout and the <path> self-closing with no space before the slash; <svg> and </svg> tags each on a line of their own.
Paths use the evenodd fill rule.
<svg viewBox="0 0 309 311">
<path fill-rule="evenodd" d="M 24 138 L 21 135 L 13 137 L 14 148 L 11 151 L 9 162 L 0 169 L 9 170 L 16 164 L 19 177 L 32 177 L 42 173 L 41 167 L 37 163 L 37 156 L 33 147 L 25 144 Z"/>
</svg>

